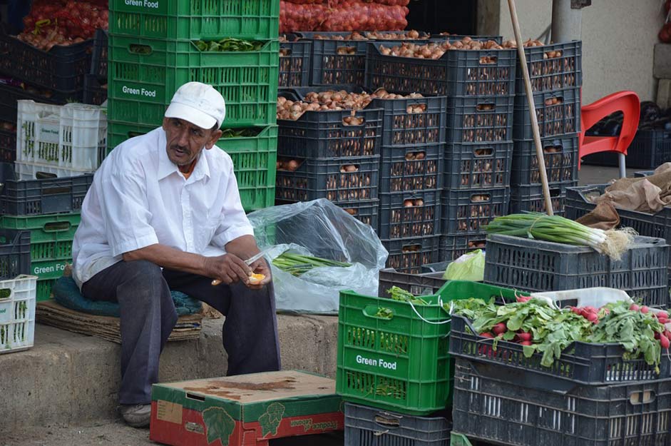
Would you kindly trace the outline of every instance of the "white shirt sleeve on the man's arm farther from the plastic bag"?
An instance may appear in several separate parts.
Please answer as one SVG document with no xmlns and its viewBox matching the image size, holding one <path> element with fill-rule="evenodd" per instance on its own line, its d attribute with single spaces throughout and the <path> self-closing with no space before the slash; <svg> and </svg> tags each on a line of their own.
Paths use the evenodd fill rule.
<svg viewBox="0 0 671 446">
<path fill-rule="evenodd" d="M 113 256 L 158 243 L 150 225 L 146 184 L 140 173 L 112 173 L 102 181 L 99 196 Z"/>
</svg>

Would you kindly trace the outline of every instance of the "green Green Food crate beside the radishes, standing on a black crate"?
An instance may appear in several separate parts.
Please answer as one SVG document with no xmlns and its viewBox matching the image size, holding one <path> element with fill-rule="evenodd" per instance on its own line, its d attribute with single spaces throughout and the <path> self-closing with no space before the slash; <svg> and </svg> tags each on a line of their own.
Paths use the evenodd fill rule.
<svg viewBox="0 0 671 446">
<path fill-rule="evenodd" d="M 514 301 L 515 291 L 452 280 L 436 295 L 422 296 L 430 305 L 414 310 L 409 303 L 341 291 L 336 392 L 349 402 L 410 415 L 444 410 L 451 404 L 454 359 L 449 314 L 439 302 L 491 297 Z M 378 318 L 379 308 L 393 317 Z"/>
</svg>

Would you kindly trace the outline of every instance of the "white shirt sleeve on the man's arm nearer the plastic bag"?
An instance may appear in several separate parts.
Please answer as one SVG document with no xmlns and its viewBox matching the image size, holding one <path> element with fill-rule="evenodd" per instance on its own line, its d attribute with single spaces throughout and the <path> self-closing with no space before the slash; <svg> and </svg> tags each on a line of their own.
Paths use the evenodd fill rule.
<svg viewBox="0 0 671 446">
<path fill-rule="evenodd" d="M 237 179 L 232 165 L 227 175 L 227 181 L 222 181 L 220 196 L 225 197 L 222 207 L 220 225 L 215 230 L 212 243 L 224 248 L 231 240 L 242 235 L 254 235 L 254 228 L 247 219 L 245 210 L 240 201 L 240 191 L 237 189 Z"/>
</svg>

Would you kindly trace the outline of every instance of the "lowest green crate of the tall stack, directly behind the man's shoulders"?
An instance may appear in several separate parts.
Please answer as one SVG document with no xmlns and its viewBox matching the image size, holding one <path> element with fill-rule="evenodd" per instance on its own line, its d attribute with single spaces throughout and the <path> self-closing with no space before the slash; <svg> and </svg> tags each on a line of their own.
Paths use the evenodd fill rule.
<svg viewBox="0 0 671 446">
<path fill-rule="evenodd" d="M 226 124 L 227 121 L 224 121 Z M 126 139 L 152 131 L 153 126 L 108 123 L 108 150 Z M 256 211 L 275 204 L 277 126 L 255 126 L 256 136 L 221 138 L 217 146 L 230 155 L 242 208 Z"/>
</svg>

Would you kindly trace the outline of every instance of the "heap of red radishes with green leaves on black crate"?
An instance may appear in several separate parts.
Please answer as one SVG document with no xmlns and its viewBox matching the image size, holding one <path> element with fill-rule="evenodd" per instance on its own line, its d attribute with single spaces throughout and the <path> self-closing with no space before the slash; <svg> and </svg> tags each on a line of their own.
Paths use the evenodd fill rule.
<svg viewBox="0 0 671 446">
<path fill-rule="evenodd" d="M 550 368 L 563 350 L 575 342 L 617 343 L 630 358 L 644 358 L 659 372 L 662 350 L 669 348 L 671 332 L 665 327 L 668 313 L 652 313 L 647 307 L 626 302 L 609 303 L 601 308 L 550 307 L 542 300 L 518 298 L 517 303 L 496 305 L 482 299 L 454 300 L 445 304 L 451 314 L 471 320 L 471 327 L 482 338 L 494 340 L 482 345 L 481 355 L 491 355 L 498 342 L 524 346 L 526 358 L 542 353 L 541 365 Z"/>
</svg>

